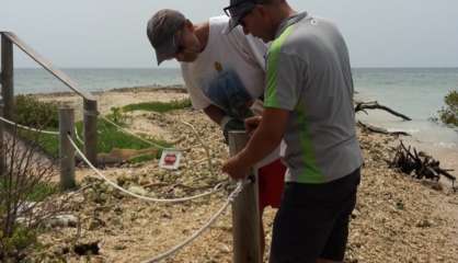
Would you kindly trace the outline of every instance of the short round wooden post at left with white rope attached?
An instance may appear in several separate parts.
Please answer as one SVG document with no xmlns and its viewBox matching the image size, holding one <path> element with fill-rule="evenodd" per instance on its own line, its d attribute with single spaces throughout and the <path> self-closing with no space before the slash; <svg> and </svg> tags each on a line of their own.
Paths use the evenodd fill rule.
<svg viewBox="0 0 458 263">
<path fill-rule="evenodd" d="M 71 107 L 59 108 L 59 160 L 60 187 L 70 190 L 76 187 L 75 181 L 75 148 L 68 135 L 75 138 L 75 111 Z"/>
</svg>

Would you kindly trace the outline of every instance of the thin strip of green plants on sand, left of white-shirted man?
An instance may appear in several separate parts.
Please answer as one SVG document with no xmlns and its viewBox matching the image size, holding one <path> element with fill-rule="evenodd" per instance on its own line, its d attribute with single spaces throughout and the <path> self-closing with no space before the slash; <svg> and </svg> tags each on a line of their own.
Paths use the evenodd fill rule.
<svg viewBox="0 0 458 263">
<path fill-rule="evenodd" d="M 133 111 L 148 111 L 148 112 L 158 112 L 165 113 L 175 110 L 188 108 L 191 107 L 191 100 L 175 100 L 172 102 L 144 102 L 137 104 L 129 104 L 123 107 L 124 112 Z"/>
</svg>

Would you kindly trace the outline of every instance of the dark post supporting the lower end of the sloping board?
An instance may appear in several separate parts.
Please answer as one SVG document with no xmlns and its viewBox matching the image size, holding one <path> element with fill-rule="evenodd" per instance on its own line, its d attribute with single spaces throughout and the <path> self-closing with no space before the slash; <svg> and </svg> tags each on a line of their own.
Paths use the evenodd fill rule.
<svg viewBox="0 0 458 263">
<path fill-rule="evenodd" d="M 98 101 L 84 99 L 84 153 L 89 161 L 98 164 Z"/>
</svg>

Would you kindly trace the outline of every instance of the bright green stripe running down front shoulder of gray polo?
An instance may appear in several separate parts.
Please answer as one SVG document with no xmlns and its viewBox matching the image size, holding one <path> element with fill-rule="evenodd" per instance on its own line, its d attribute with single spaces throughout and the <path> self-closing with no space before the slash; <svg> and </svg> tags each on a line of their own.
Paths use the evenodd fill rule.
<svg viewBox="0 0 458 263">
<path fill-rule="evenodd" d="M 264 96 L 264 106 L 278 107 L 277 99 L 277 71 L 278 71 L 278 58 L 280 55 L 282 46 L 286 38 L 293 33 L 293 26 L 286 28 L 280 36 L 278 36 L 268 48 L 267 57 L 267 87 Z"/>
</svg>

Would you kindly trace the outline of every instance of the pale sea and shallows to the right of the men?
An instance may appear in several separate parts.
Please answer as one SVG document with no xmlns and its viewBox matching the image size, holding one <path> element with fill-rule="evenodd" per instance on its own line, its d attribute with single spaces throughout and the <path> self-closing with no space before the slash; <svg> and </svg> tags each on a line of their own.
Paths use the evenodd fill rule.
<svg viewBox="0 0 458 263">
<path fill-rule="evenodd" d="M 445 106 L 444 98 L 458 91 L 458 68 L 355 69 L 356 100 L 377 101 L 412 118 L 404 122 L 383 111 L 358 113 L 357 118 L 390 132 L 411 134 L 407 145 L 432 155 L 458 178 L 458 128 L 432 122 Z"/>
</svg>

